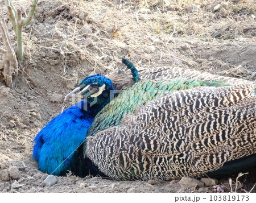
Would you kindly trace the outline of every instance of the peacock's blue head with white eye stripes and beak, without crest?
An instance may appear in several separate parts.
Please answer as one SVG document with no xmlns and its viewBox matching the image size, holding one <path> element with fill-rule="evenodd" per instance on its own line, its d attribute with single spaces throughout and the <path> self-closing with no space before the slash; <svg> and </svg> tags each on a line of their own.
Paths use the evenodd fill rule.
<svg viewBox="0 0 256 203">
<path fill-rule="evenodd" d="M 86 100 L 89 107 L 102 109 L 115 96 L 112 81 L 102 74 L 85 77 L 77 88 L 65 96 L 68 98 L 81 98 Z M 94 106 L 93 106 L 94 105 Z"/>
</svg>

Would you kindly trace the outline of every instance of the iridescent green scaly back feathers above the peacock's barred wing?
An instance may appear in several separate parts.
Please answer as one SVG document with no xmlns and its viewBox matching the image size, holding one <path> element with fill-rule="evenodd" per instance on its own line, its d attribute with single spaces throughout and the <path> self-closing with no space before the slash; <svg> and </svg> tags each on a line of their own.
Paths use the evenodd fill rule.
<svg viewBox="0 0 256 203">
<path fill-rule="evenodd" d="M 192 89 L 199 86 L 224 86 L 220 81 L 176 78 L 173 80 L 144 80 L 120 94 L 97 114 L 87 135 L 93 136 L 100 130 L 118 126 L 125 115 L 133 113 L 138 106 L 176 90 Z"/>
</svg>

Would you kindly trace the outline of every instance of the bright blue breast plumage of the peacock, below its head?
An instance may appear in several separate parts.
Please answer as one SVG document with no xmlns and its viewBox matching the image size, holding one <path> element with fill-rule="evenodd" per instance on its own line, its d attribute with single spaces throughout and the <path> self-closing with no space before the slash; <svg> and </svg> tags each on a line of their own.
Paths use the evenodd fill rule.
<svg viewBox="0 0 256 203">
<path fill-rule="evenodd" d="M 33 158 L 38 161 L 40 171 L 64 175 L 67 169 L 71 169 L 75 161 L 73 152 L 84 142 L 95 116 L 81 109 L 83 103 L 81 101 L 57 115 L 34 139 Z"/>
</svg>

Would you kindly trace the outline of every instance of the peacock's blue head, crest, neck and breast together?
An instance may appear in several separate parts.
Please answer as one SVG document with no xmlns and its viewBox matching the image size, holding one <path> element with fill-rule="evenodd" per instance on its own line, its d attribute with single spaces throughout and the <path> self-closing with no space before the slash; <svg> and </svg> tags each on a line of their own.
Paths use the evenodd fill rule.
<svg viewBox="0 0 256 203">
<path fill-rule="evenodd" d="M 130 71 L 133 77 L 127 70 L 107 77 L 102 74 L 88 76 L 67 94 L 65 99 L 80 97 L 82 101 L 51 119 L 36 135 L 32 158 L 38 161 L 40 171 L 57 176 L 65 176 L 67 171 L 76 171 L 75 163 L 79 155 L 76 149 L 84 142 L 94 117 L 115 97 L 116 87 L 125 88 L 131 78 L 134 82 L 138 81 L 135 67 L 131 67 Z"/>
</svg>

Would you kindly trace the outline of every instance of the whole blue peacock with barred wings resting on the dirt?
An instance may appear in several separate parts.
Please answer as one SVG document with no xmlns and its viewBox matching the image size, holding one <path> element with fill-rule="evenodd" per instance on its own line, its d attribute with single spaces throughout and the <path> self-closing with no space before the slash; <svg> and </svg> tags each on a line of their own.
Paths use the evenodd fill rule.
<svg viewBox="0 0 256 203">
<path fill-rule="evenodd" d="M 110 80 L 112 86 L 106 89 L 104 82 L 85 78 L 67 97 L 86 94 L 88 100 L 65 110 L 39 132 L 33 157 L 41 171 L 65 175 L 71 170 L 82 177 L 93 174 L 116 180 L 169 180 L 214 171 L 255 154 L 255 144 L 251 144 L 255 141 L 254 84 L 226 86 L 245 81 L 171 68 L 142 70 L 138 76 L 133 64 L 123 63 L 131 69 L 133 82 L 139 78 L 140 82 L 131 86 L 130 79 L 123 82 L 111 76 L 119 78 L 118 82 Z M 89 94 L 83 90 L 88 88 Z M 122 93 L 110 102 L 114 89 Z M 90 106 L 96 98 L 100 104 Z M 80 107 L 84 103 L 90 106 L 85 111 Z"/>
</svg>

